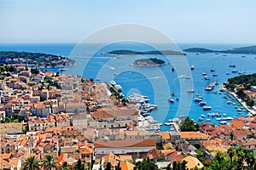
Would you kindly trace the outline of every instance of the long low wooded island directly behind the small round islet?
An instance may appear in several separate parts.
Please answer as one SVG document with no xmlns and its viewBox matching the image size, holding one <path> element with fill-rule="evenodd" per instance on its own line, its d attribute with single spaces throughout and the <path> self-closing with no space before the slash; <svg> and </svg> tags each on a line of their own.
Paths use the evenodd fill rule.
<svg viewBox="0 0 256 170">
<path fill-rule="evenodd" d="M 172 50 L 155 50 L 155 51 L 132 51 L 126 49 L 113 50 L 107 53 L 102 53 L 105 55 L 139 55 L 139 54 L 148 54 L 148 55 L 186 55 L 181 51 L 172 51 Z"/>
</svg>

